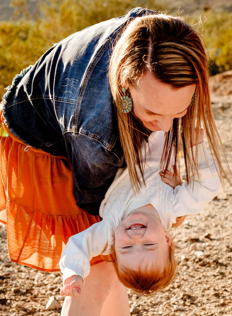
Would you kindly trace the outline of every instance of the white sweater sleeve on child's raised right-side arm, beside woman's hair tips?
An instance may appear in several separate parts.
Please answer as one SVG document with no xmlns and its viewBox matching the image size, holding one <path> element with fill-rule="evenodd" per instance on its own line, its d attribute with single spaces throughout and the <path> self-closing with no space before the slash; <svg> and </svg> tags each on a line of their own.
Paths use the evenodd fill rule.
<svg viewBox="0 0 232 316">
<path fill-rule="evenodd" d="M 193 150 L 196 150 L 196 146 Z M 168 227 L 176 221 L 175 218 L 178 216 L 198 214 L 216 196 L 220 179 L 205 142 L 198 145 L 197 169 L 200 181 L 193 181 L 192 176 L 191 185 L 183 183 L 176 186 L 174 190 L 168 191 L 168 201 L 172 210 Z"/>
</svg>

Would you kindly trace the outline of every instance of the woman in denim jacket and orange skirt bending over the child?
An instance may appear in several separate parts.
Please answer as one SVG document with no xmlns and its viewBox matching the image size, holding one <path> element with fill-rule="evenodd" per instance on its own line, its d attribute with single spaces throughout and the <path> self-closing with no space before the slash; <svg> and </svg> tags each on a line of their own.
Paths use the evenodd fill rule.
<svg viewBox="0 0 232 316">
<path fill-rule="evenodd" d="M 117 168 L 128 166 L 139 191 L 141 144 L 151 131 L 167 132 L 165 170 L 172 151 L 178 163 L 182 141 L 189 182 L 197 163 L 192 129 L 198 135 L 202 122 L 226 176 L 200 38 L 181 19 L 145 9 L 51 47 L 16 76 L 2 120 L 11 136 L 1 139 L 10 258 L 37 269 L 58 270 L 68 238 L 100 220 Z M 113 264 L 95 258 L 92 265 L 81 300 L 66 298 L 62 315 L 129 315 Z"/>
</svg>

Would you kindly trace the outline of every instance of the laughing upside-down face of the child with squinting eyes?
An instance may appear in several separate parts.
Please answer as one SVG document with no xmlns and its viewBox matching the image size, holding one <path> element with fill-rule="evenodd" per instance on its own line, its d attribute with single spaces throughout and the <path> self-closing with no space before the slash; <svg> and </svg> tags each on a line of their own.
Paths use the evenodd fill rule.
<svg viewBox="0 0 232 316">
<path fill-rule="evenodd" d="M 139 227 L 139 228 L 136 228 Z M 137 271 L 167 264 L 171 236 L 160 221 L 146 212 L 130 213 L 115 230 L 115 252 L 119 267 Z"/>
</svg>

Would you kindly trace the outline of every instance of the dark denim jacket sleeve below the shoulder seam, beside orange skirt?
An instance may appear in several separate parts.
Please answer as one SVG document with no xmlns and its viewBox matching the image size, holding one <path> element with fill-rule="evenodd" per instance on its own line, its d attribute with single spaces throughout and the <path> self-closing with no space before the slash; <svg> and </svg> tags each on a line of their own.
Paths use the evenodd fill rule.
<svg viewBox="0 0 232 316">
<path fill-rule="evenodd" d="M 72 162 L 77 205 L 96 215 L 123 159 L 86 135 L 75 134 L 74 145 L 72 133 L 65 133 L 64 138 Z"/>
</svg>

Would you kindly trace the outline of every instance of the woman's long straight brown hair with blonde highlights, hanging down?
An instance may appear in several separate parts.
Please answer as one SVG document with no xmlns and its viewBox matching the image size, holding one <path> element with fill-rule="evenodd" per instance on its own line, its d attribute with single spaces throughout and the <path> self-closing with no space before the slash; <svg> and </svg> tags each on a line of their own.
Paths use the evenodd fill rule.
<svg viewBox="0 0 232 316">
<path fill-rule="evenodd" d="M 137 17 L 130 22 L 117 40 L 110 58 L 110 88 L 132 187 L 139 191 L 141 186 L 138 171 L 143 178 L 141 133 L 146 129 L 141 128 L 141 122 L 133 111 L 126 114 L 121 112 L 119 98 L 125 83 L 136 86 L 147 71 L 173 88 L 196 84 L 195 104 L 188 107 L 184 117 L 174 119 L 171 129 L 166 133 L 161 167 L 167 169 L 171 154 L 174 155 L 175 164 L 179 165 L 178 151 L 182 148 L 189 184 L 191 173 L 198 175 L 198 153 L 192 150 L 192 132 L 195 128 L 198 135 L 203 125 L 211 153 L 217 161 L 218 175 L 222 182 L 223 175 L 229 181 L 221 164 L 220 154 L 227 161 L 211 109 L 208 63 L 200 36 L 182 18 L 154 14 Z"/>
</svg>

